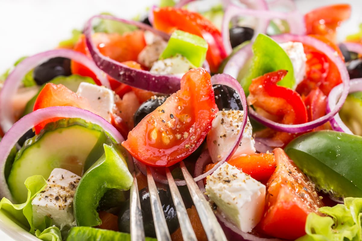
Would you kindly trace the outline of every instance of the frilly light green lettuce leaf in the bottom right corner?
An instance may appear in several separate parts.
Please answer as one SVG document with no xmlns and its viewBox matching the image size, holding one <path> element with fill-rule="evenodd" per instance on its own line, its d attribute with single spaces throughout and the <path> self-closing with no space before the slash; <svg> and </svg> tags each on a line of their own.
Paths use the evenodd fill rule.
<svg viewBox="0 0 362 241">
<path fill-rule="evenodd" d="M 328 216 L 310 213 L 306 222 L 307 234 L 297 241 L 362 240 L 362 198 L 345 198 L 344 202 L 319 208 Z"/>
</svg>

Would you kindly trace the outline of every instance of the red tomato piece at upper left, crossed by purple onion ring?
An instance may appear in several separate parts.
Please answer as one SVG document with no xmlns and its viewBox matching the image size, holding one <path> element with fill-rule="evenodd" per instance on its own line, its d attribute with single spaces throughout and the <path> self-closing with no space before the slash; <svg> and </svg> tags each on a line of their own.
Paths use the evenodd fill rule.
<svg viewBox="0 0 362 241">
<path fill-rule="evenodd" d="M 144 33 L 141 30 L 135 30 L 123 35 L 117 33 L 95 33 L 92 36 L 92 40 L 103 55 L 117 60 L 118 62 L 137 61 L 138 54 L 146 47 Z M 91 57 L 88 47 L 85 44 L 84 35 L 80 36 L 78 42 L 74 46 L 74 50 Z M 96 75 L 84 65 L 72 61 L 71 69 L 73 74 L 89 76 L 100 85 Z M 114 90 L 119 85 L 119 82 L 110 77 L 109 80 L 111 87 Z"/>
</svg>

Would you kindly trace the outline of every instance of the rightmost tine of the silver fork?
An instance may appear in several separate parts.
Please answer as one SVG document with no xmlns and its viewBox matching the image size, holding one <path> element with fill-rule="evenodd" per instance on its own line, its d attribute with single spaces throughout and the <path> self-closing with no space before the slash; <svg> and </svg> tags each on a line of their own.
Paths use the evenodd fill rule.
<svg viewBox="0 0 362 241">
<path fill-rule="evenodd" d="M 189 171 L 187 170 L 184 162 L 180 163 L 182 175 L 184 175 L 186 185 L 190 191 L 192 200 L 194 201 L 196 210 L 199 214 L 201 223 L 206 232 L 206 236 L 208 240 L 215 241 L 226 241 L 225 234 L 212 211 L 209 202 L 206 201 L 203 193 L 198 188 L 196 182 L 191 177 Z"/>
</svg>

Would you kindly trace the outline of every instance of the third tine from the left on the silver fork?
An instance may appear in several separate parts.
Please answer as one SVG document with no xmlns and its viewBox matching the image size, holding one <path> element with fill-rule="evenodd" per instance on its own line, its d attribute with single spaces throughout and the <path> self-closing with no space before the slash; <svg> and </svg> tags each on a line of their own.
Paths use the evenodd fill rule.
<svg viewBox="0 0 362 241">
<path fill-rule="evenodd" d="M 170 186 L 170 191 L 173 199 L 173 203 L 176 207 L 177 218 L 180 223 L 181 233 L 184 240 L 197 241 L 194 229 L 192 228 L 189 216 L 187 214 L 185 204 L 182 201 L 182 197 L 175 181 L 171 175 L 171 172 L 166 168 L 166 175 L 168 180 L 168 185 Z"/>
</svg>

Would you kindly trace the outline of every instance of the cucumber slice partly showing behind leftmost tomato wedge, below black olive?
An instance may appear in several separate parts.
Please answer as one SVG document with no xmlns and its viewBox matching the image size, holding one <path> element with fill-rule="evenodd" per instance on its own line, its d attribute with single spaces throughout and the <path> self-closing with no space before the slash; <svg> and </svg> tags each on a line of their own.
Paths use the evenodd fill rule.
<svg viewBox="0 0 362 241">
<path fill-rule="evenodd" d="M 92 78 L 80 76 L 77 74 L 72 74 L 71 76 L 58 76 L 49 81 L 49 83 L 53 83 L 54 85 L 62 84 L 73 92 L 77 91 L 78 86 L 81 82 L 95 84 Z M 43 89 L 44 86 L 45 84 L 40 87 L 39 92 Z M 34 95 L 34 97 L 31 98 L 28 101 L 28 103 L 26 103 L 25 110 L 22 116 L 25 116 L 30 112 L 33 112 L 34 103 L 39 95 L 39 92 L 36 95 Z"/>
</svg>

